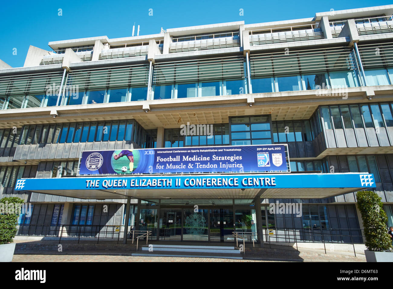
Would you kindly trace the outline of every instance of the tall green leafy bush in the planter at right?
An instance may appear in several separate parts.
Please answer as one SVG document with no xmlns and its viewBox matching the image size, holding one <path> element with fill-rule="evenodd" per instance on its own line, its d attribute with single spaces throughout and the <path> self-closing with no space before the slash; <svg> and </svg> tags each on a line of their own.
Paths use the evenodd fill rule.
<svg viewBox="0 0 393 289">
<path fill-rule="evenodd" d="M 387 216 L 381 198 L 373 191 L 358 191 L 356 199 L 363 219 L 365 246 L 370 251 L 383 252 L 392 248 L 386 229 Z"/>
</svg>

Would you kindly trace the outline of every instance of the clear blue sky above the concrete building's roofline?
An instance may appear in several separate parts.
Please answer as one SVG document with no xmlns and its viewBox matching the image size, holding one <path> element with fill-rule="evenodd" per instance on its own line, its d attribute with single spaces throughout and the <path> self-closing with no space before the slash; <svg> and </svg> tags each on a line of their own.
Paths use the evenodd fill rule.
<svg viewBox="0 0 393 289">
<path fill-rule="evenodd" d="M 0 8 L 0 59 L 23 66 L 29 45 L 50 50 L 49 41 L 107 35 L 128 37 L 132 25 L 140 35 L 176 28 L 221 22 L 246 24 L 314 17 L 316 12 L 380 6 L 389 0 L 249 0 L 249 1 L 2 1 Z M 62 16 L 58 16 L 58 9 Z M 153 16 L 149 16 L 149 9 Z M 244 16 L 239 9 L 244 9 Z M 13 55 L 17 48 L 17 55 Z"/>
</svg>

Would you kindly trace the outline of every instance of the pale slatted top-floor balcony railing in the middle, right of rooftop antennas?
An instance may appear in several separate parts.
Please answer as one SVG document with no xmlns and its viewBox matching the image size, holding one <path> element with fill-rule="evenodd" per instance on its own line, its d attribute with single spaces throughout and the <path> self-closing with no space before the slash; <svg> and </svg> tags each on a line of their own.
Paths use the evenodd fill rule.
<svg viewBox="0 0 393 289">
<path fill-rule="evenodd" d="M 232 35 L 228 37 L 216 37 L 215 34 L 203 35 L 206 39 L 197 39 L 188 41 L 179 41 L 182 39 L 176 39 L 176 42 L 172 42 L 169 46 L 169 53 L 175 52 L 187 52 L 195 50 L 209 50 L 209 49 L 219 49 L 219 48 L 230 48 L 239 47 L 240 38 L 239 35 Z M 183 37 L 184 38 L 184 37 Z M 189 37 L 187 37 L 188 39 Z"/>
</svg>

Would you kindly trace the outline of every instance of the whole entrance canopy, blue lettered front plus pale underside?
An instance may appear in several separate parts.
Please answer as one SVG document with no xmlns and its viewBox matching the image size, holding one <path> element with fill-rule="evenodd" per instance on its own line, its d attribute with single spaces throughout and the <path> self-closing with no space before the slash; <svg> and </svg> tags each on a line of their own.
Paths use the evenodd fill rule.
<svg viewBox="0 0 393 289">
<path fill-rule="evenodd" d="M 369 173 L 292 173 L 18 179 L 15 190 L 86 199 L 116 199 L 116 195 L 119 199 L 127 196 L 165 197 L 173 196 L 174 192 L 182 197 L 196 193 L 200 196 L 205 192 L 203 195 L 208 197 L 212 191 L 221 192 L 225 198 L 234 197 L 233 192 L 246 191 L 248 197 L 252 197 L 261 190 L 266 197 L 273 194 L 275 198 L 321 198 L 375 187 L 374 175 Z M 238 195 L 244 194 L 239 192 Z"/>
</svg>

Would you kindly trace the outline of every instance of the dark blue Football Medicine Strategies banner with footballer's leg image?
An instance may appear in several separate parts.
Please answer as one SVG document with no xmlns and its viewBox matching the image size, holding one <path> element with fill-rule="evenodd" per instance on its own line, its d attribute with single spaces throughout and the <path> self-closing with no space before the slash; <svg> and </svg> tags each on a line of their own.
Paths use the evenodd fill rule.
<svg viewBox="0 0 393 289">
<path fill-rule="evenodd" d="M 288 172 L 286 145 L 83 151 L 79 175 Z"/>
</svg>

